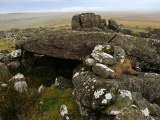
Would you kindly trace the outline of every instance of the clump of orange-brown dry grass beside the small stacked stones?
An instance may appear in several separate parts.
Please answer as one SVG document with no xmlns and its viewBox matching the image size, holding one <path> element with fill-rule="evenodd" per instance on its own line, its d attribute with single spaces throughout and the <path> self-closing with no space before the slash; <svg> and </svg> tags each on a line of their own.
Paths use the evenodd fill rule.
<svg viewBox="0 0 160 120">
<path fill-rule="evenodd" d="M 132 75 L 137 74 L 137 72 L 132 69 L 131 62 L 129 59 L 125 59 L 123 63 L 117 62 L 115 65 L 111 67 L 111 69 L 113 69 L 118 75 L 123 73 Z"/>
</svg>

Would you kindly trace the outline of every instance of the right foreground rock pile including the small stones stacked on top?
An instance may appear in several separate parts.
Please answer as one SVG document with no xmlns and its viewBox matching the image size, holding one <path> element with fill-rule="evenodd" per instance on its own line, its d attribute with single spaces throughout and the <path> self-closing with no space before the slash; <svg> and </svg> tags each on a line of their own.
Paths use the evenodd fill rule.
<svg viewBox="0 0 160 120">
<path fill-rule="evenodd" d="M 97 48 L 105 47 L 97 45 L 92 53 L 95 53 Z M 102 49 L 98 50 L 104 52 Z M 113 54 L 120 58 L 116 59 L 113 65 L 97 61 L 96 59 L 101 59 L 101 56 L 96 56 L 96 59 L 91 56 L 85 60 L 88 66 L 75 69 L 73 95 L 79 105 L 81 115 L 87 120 L 152 120 L 153 116 L 160 116 L 160 104 L 157 102 L 160 99 L 160 87 L 158 86 L 160 74 L 133 72 L 136 74 L 133 76 L 129 75 L 132 74 L 129 71 L 121 73 L 114 71 L 116 64 L 118 64 L 117 69 L 123 68 L 119 63 L 123 66 L 127 64 L 121 60 L 126 59 L 121 47 L 115 46 Z M 129 66 L 124 69 L 128 68 Z"/>
</svg>

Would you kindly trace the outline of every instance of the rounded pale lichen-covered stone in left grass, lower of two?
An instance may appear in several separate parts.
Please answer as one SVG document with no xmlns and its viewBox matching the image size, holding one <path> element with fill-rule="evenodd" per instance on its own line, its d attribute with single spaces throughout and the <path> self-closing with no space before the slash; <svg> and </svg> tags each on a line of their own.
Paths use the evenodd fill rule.
<svg viewBox="0 0 160 120">
<path fill-rule="evenodd" d="M 26 81 L 18 81 L 18 82 L 15 82 L 14 89 L 20 93 L 24 93 L 27 91 L 28 85 L 27 85 Z"/>
</svg>

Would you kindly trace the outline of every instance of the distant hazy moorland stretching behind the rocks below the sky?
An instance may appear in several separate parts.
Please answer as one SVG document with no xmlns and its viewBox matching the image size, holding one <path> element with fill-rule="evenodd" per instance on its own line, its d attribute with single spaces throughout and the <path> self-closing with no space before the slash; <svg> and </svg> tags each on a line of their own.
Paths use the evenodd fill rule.
<svg viewBox="0 0 160 120">
<path fill-rule="evenodd" d="M 0 14 L 0 30 L 12 28 L 53 27 L 70 25 L 72 16 L 82 12 L 8 13 Z M 95 12 L 102 18 L 114 19 L 125 26 L 160 27 L 159 13 Z"/>
</svg>

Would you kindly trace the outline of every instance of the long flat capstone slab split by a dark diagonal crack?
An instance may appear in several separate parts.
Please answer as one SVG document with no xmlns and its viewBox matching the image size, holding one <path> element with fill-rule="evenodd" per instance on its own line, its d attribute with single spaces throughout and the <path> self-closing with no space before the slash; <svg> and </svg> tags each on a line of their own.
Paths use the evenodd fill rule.
<svg viewBox="0 0 160 120">
<path fill-rule="evenodd" d="M 82 60 L 91 54 L 97 44 L 106 43 L 113 36 L 104 32 L 50 31 L 19 41 L 17 48 L 52 57 Z M 139 62 L 141 68 L 160 69 L 159 40 L 117 35 L 111 45 L 122 47 L 127 57 L 131 58 L 133 67 Z"/>
</svg>

